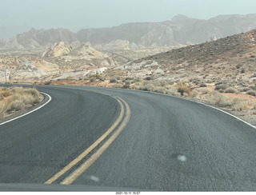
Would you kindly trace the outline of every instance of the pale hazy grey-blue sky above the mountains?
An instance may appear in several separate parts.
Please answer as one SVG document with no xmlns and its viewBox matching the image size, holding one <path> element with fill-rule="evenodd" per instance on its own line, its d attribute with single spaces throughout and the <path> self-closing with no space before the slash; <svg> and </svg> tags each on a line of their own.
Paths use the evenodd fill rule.
<svg viewBox="0 0 256 195">
<path fill-rule="evenodd" d="M 255 0 L 0 0 L 0 26 L 76 31 L 127 22 L 162 22 L 176 14 L 202 19 L 256 14 L 255 8 Z"/>
</svg>

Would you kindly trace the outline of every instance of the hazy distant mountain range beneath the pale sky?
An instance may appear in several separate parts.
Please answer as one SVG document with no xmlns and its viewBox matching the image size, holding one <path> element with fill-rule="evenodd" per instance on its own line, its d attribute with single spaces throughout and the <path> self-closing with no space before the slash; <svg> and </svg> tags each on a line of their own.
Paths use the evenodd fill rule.
<svg viewBox="0 0 256 195">
<path fill-rule="evenodd" d="M 86 42 L 98 50 L 142 49 L 202 43 L 256 28 L 256 14 L 221 15 L 208 20 L 177 15 L 165 22 L 138 22 L 98 29 L 35 30 L 0 40 L 0 49 L 20 50 L 49 47 L 56 42 L 79 46 Z"/>
</svg>

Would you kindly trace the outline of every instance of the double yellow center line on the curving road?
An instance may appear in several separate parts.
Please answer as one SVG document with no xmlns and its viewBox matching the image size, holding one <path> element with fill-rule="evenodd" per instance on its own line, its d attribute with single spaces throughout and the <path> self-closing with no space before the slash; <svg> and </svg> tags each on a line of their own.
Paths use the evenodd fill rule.
<svg viewBox="0 0 256 195">
<path fill-rule="evenodd" d="M 112 98 L 115 98 L 115 97 L 112 96 Z M 93 165 L 94 161 L 96 161 L 98 157 L 100 157 L 102 153 L 118 137 L 119 133 L 122 132 L 122 129 L 125 128 L 128 121 L 130 120 L 130 107 L 126 103 L 126 101 L 122 100 L 122 98 L 115 98 L 115 99 L 118 101 L 119 105 L 121 106 L 121 112 L 118 116 L 118 119 L 114 122 L 113 125 L 111 125 L 110 129 L 108 129 L 106 133 L 102 135 L 102 137 L 99 137 L 97 141 L 95 141 L 92 145 L 90 145 L 88 149 L 82 152 L 78 157 L 76 157 L 73 161 L 71 161 L 68 165 L 66 165 L 63 169 L 61 169 L 58 173 L 56 173 L 53 177 L 47 180 L 45 184 L 53 183 L 59 177 L 61 177 L 64 173 L 66 173 L 72 167 L 74 167 L 74 165 L 77 165 L 79 161 L 82 161 L 83 158 L 85 158 L 97 145 L 99 145 L 121 123 L 118 126 L 118 129 L 105 141 L 105 143 L 88 160 L 86 160 L 82 165 L 80 165 L 77 169 L 75 169 L 72 173 L 70 173 L 68 177 L 66 177 L 63 181 L 60 182 L 60 184 L 62 185 L 72 184 L 82 173 L 86 171 L 86 169 L 90 167 L 90 165 Z M 122 120 L 124 116 L 124 105 L 126 107 L 126 114 L 124 119 Z"/>
</svg>

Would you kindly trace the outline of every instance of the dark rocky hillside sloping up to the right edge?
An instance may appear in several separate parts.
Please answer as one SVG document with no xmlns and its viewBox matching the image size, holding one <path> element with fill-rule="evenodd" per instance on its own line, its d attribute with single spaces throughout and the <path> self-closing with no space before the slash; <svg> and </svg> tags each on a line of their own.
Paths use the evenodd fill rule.
<svg viewBox="0 0 256 195">
<path fill-rule="evenodd" d="M 256 30 L 170 50 L 129 62 L 114 70 L 117 71 L 116 77 L 122 74 L 124 77 L 166 80 L 252 81 L 256 77 Z"/>
</svg>

